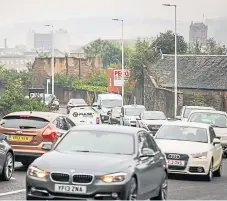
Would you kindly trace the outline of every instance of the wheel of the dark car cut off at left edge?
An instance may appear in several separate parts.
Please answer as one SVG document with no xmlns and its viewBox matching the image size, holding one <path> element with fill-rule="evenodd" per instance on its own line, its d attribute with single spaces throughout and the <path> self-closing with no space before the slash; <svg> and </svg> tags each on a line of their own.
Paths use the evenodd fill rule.
<svg viewBox="0 0 227 201">
<path fill-rule="evenodd" d="M 6 155 L 6 161 L 3 167 L 3 171 L 1 174 L 1 180 L 3 181 L 9 181 L 13 175 L 14 170 L 14 159 L 13 155 L 9 152 Z"/>
</svg>

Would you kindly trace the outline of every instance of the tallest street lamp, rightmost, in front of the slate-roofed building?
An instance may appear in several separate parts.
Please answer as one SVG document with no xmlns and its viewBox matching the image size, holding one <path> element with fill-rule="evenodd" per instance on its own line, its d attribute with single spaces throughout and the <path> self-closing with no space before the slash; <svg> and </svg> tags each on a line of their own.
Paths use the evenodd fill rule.
<svg viewBox="0 0 227 201">
<path fill-rule="evenodd" d="M 174 4 L 162 4 L 167 7 L 174 7 L 175 9 L 175 83 L 174 83 L 174 116 L 177 116 L 177 5 Z"/>
</svg>

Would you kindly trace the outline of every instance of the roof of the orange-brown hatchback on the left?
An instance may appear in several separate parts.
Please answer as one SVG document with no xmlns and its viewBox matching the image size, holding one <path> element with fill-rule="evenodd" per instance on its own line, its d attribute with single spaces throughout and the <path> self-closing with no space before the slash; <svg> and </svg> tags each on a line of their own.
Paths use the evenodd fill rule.
<svg viewBox="0 0 227 201">
<path fill-rule="evenodd" d="M 5 115 L 4 117 L 8 117 L 8 116 L 31 116 L 31 117 L 39 117 L 39 118 L 43 118 L 46 119 L 48 121 L 53 121 L 54 119 L 56 119 L 59 116 L 65 116 L 64 114 L 59 114 L 59 113 L 54 113 L 54 112 L 39 112 L 39 111 L 20 111 L 20 112 L 12 112 L 9 113 L 7 115 Z"/>
</svg>

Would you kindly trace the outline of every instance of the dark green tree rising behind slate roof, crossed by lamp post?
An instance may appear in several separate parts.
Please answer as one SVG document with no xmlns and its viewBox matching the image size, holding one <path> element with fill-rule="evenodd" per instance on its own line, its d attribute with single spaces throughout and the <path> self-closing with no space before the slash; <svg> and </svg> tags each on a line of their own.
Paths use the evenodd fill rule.
<svg viewBox="0 0 227 201">
<path fill-rule="evenodd" d="M 172 31 L 160 33 L 154 40 L 152 47 L 160 49 L 163 54 L 174 54 L 175 52 L 175 34 Z M 187 52 L 187 43 L 183 36 L 177 35 L 177 53 Z"/>
</svg>

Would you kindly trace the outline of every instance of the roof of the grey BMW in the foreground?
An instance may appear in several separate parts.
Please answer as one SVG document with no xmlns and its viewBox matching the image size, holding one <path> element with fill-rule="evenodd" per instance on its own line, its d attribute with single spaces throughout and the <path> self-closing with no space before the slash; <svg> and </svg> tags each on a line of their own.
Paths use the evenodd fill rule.
<svg viewBox="0 0 227 201">
<path fill-rule="evenodd" d="M 129 127 L 129 126 L 116 126 L 116 125 L 78 125 L 71 128 L 72 131 L 102 131 L 102 132 L 116 132 L 116 133 L 125 133 L 125 134 L 136 134 L 137 132 L 144 130 L 142 128 L 137 127 Z"/>
</svg>

